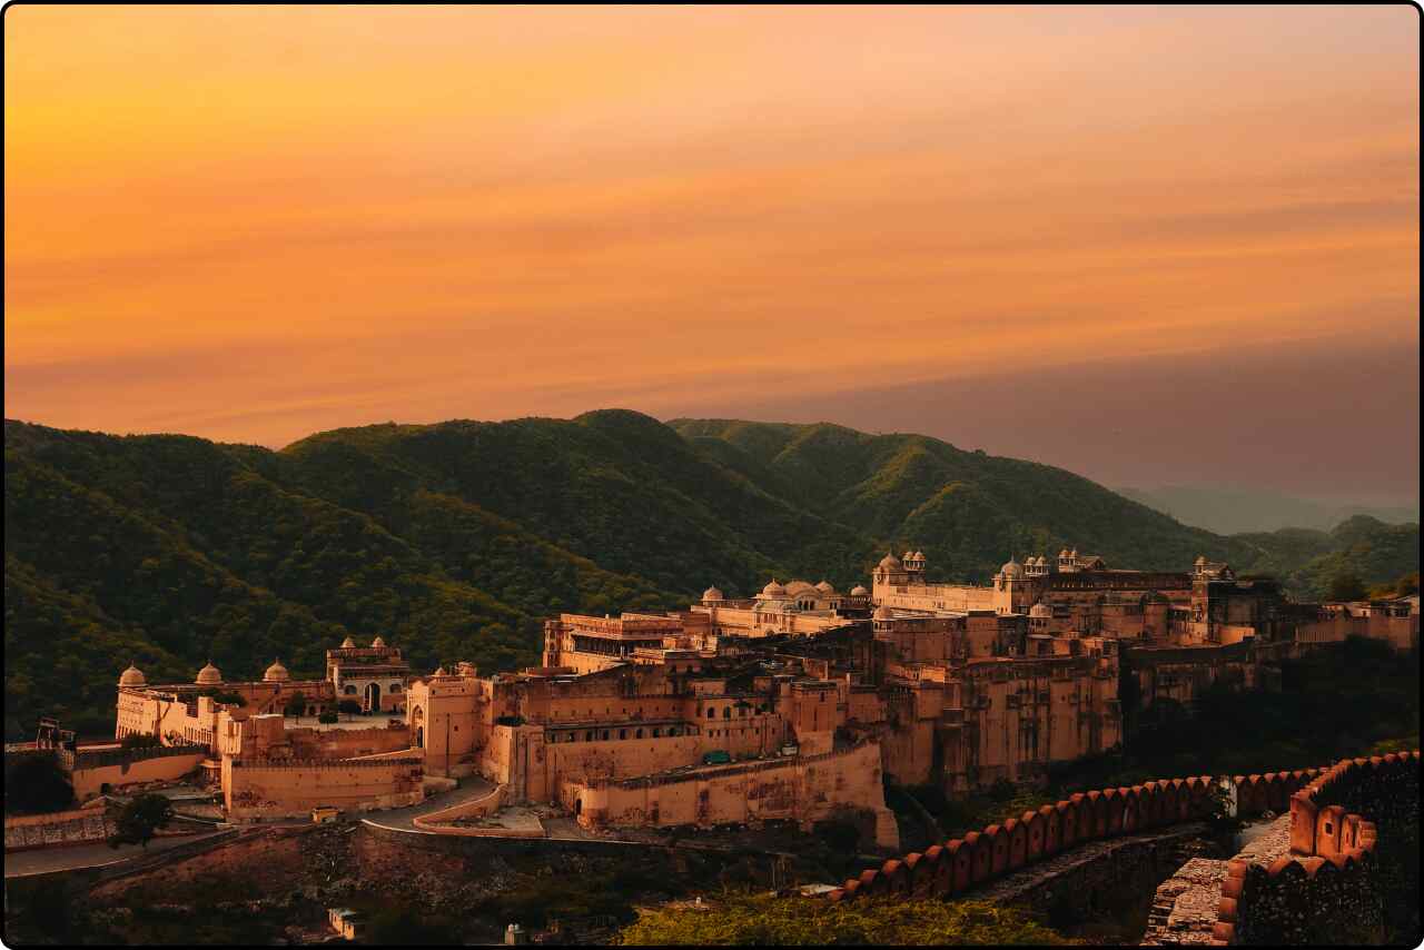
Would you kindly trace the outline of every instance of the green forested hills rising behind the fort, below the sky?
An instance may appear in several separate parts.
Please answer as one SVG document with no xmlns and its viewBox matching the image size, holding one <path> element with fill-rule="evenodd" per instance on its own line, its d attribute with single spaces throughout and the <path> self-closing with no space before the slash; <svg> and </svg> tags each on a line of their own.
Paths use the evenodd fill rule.
<svg viewBox="0 0 1424 950">
<path fill-rule="evenodd" d="M 769 575 L 867 580 L 887 546 L 984 580 L 1010 551 L 1077 547 L 1183 568 L 1198 554 L 1307 593 L 1418 568 L 1417 526 L 1220 537 L 1030 461 L 839 426 L 572 420 L 366 426 L 281 451 L 6 422 L 6 731 L 111 724 L 112 684 L 380 634 L 417 668 L 537 661 L 540 621 L 685 604 Z"/>
</svg>

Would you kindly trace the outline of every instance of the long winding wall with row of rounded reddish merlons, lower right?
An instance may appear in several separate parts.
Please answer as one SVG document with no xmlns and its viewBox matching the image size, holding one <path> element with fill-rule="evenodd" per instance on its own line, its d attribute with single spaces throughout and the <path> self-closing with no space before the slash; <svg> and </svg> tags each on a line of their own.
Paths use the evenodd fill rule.
<svg viewBox="0 0 1424 950">
<path fill-rule="evenodd" d="M 1304 798 L 1307 802 L 1316 803 L 1320 813 L 1343 815 L 1344 805 L 1339 806 L 1340 812 L 1334 812 L 1321 808 L 1321 803 L 1331 796 L 1356 802 L 1364 800 L 1368 795 L 1383 795 L 1390 800 L 1403 799 L 1404 805 L 1400 808 L 1407 809 L 1408 795 L 1401 796 L 1398 789 L 1413 788 L 1413 808 L 1417 813 L 1418 753 L 1383 756 L 1378 762 L 1381 765 L 1376 766 L 1370 759 L 1357 759 L 1354 763 L 1343 762 L 1334 768 L 1237 775 L 1220 779 L 1203 775 L 1143 782 L 1131 788 L 1079 792 L 1055 805 L 1044 805 L 1037 810 L 1024 812 L 1018 818 L 990 825 L 981 832 L 970 832 L 964 837 L 950 839 L 944 845 L 933 845 L 923 853 L 913 852 L 893 857 L 879 869 L 862 872 L 860 877 L 847 880 L 826 896 L 829 900 L 840 902 L 862 896 L 950 897 L 984 890 L 990 882 L 1072 849 L 1087 847 L 1104 839 L 1141 835 L 1172 825 L 1203 820 L 1212 809 L 1210 789 L 1219 783 L 1235 786 L 1236 812 L 1240 818 L 1255 818 L 1267 810 L 1284 813 L 1287 809 L 1302 808 L 1294 803 L 1293 798 L 1302 789 L 1309 789 L 1310 793 Z M 1405 766 L 1404 763 L 1413 765 Z M 1396 789 L 1394 792 L 1366 790 L 1370 782 L 1384 775 L 1394 776 L 1390 769 L 1405 768 L 1413 769 L 1411 778 L 1393 778 L 1388 788 Z M 1351 772 L 1351 769 L 1360 771 Z M 1370 782 L 1366 781 L 1366 776 L 1370 776 Z M 1349 799 L 1350 795 L 1356 798 Z M 1304 819 L 1302 820 L 1304 822 Z M 1344 825 L 1354 829 L 1350 847 L 1358 849 L 1360 842 L 1373 840 L 1376 832 L 1373 826 L 1366 828 L 1370 823 L 1364 819 L 1356 816 L 1351 825 L 1346 815 Z M 1310 846 L 1324 847 L 1329 855 L 1339 856 L 1344 852 L 1340 850 L 1340 845 L 1331 842 L 1343 833 L 1340 818 L 1333 819 L 1330 828 L 1331 830 L 1326 832 L 1323 839 L 1317 833 Z M 1344 857 L 1349 855 L 1344 853 Z M 1319 860 L 1324 862 L 1326 857 Z M 1343 860 L 1343 857 L 1331 857 L 1330 860 Z M 1319 870 L 1320 865 L 1313 865 L 1313 867 Z M 1302 870 L 1304 869 L 1302 867 Z M 1280 870 L 1277 870 L 1279 873 Z M 1230 909 L 1226 910 L 1230 912 Z"/>
</svg>

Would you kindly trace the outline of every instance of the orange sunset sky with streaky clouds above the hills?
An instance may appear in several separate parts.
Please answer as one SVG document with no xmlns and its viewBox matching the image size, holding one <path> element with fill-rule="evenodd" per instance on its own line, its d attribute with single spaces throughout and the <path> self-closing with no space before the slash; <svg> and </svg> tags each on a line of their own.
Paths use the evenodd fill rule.
<svg viewBox="0 0 1424 950">
<path fill-rule="evenodd" d="M 1418 497 L 1420 17 L 10 7 L 6 416 L 675 414 Z"/>
</svg>

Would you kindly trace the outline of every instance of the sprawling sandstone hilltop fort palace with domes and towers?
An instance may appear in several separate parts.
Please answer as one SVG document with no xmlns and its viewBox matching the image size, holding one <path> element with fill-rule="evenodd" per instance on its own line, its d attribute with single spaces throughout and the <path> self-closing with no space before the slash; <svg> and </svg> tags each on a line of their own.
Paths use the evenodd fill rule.
<svg viewBox="0 0 1424 950">
<path fill-rule="evenodd" d="M 1349 635 L 1418 644 L 1417 597 L 1296 604 L 1205 558 L 1134 571 L 1065 550 L 965 585 L 928 581 L 906 551 L 870 581 L 562 614 L 544 624 L 541 665 L 517 674 L 413 677 L 380 638 L 329 649 L 313 681 L 273 662 L 261 682 L 226 682 L 209 664 L 151 687 L 131 667 L 115 738 L 187 751 L 158 771 L 199 769 L 229 820 L 407 805 L 477 775 L 496 808 L 553 806 L 588 829 L 850 816 L 891 847 L 886 778 L 950 793 L 1037 781 L 1118 745 L 1125 702 L 1269 687 L 1279 661 Z M 393 718 L 303 725 L 283 715 L 296 694 L 303 715 L 355 701 Z"/>
</svg>

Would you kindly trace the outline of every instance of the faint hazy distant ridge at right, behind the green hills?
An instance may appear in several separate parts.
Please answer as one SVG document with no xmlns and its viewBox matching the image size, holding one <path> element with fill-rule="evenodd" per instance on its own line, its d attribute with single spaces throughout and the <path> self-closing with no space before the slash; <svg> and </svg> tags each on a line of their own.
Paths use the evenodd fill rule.
<svg viewBox="0 0 1424 950">
<path fill-rule="evenodd" d="M 1297 499 L 1279 491 L 1253 489 L 1206 489 L 1166 486 L 1161 489 L 1116 489 L 1134 501 L 1171 514 L 1182 524 L 1215 531 L 1245 534 L 1280 528 L 1330 531 L 1341 521 L 1367 516 L 1386 524 L 1417 524 L 1420 507 L 1383 507 L 1368 504 L 1329 504 Z"/>
</svg>

